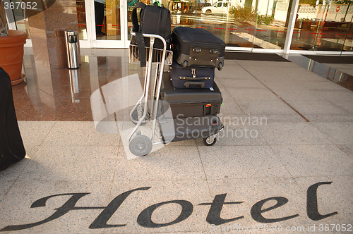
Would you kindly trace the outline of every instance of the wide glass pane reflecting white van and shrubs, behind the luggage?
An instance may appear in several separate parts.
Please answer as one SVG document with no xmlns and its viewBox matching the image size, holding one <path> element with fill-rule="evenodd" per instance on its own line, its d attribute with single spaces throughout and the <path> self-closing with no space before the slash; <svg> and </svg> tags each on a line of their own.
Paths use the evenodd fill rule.
<svg viewBox="0 0 353 234">
<path fill-rule="evenodd" d="M 275 0 L 162 0 L 172 28 L 200 27 L 228 46 L 283 49 L 288 5 Z"/>
</svg>

